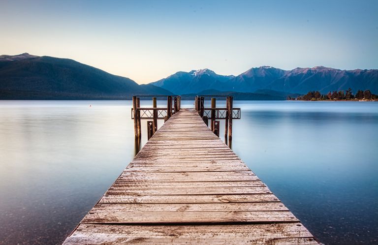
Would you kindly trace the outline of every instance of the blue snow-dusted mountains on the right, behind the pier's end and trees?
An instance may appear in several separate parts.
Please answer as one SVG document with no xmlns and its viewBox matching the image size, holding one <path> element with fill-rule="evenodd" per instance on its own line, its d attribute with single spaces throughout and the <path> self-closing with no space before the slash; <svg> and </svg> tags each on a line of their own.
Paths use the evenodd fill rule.
<svg viewBox="0 0 378 245">
<path fill-rule="evenodd" d="M 199 93 L 204 89 L 224 92 L 271 90 L 305 94 L 309 91 L 370 90 L 378 92 L 378 70 L 340 70 L 324 66 L 283 70 L 271 66 L 251 68 L 238 76 L 222 76 L 209 69 L 177 72 L 152 85 L 173 93 Z"/>
</svg>

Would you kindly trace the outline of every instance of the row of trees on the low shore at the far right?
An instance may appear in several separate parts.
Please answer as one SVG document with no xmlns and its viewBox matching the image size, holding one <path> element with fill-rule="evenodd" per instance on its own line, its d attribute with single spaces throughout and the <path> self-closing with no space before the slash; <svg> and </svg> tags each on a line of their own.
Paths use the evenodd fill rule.
<svg viewBox="0 0 378 245">
<path fill-rule="evenodd" d="M 298 97 L 287 96 L 287 100 L 353 100 L 353 101 L 378 101 L 378 95 L 370 92 L 370 90 L 358 90 L 356 94 L 353 94 L 349 88 L 346 91 L 333 91 L 327 94 L 321 94 L 319 91 L 310 91 L 305 95 Z"/>
</svg>

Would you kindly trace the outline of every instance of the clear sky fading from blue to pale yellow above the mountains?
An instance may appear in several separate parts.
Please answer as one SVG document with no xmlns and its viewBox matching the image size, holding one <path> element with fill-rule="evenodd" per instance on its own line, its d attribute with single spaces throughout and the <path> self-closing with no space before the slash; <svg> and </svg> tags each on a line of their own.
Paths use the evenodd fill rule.
<svg viewBox="0 0 378 245">
<path fill-rule="evenodd" d="M 137 83 L 209 68 L 378 68 L 378 0 L 0 0 L 0 54 L 69 58 Z"/>
</svg>

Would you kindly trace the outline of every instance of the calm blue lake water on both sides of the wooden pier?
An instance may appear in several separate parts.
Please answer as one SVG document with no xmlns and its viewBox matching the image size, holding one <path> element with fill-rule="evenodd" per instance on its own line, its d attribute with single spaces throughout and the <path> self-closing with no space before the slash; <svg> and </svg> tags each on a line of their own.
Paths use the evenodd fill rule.
<svg viewBox="0 0 378 245">
<path fill-rule="evenodd" d="M 378 243 L 378 103 L 234 106 L 232 150 L 321 243 Z M 63 242 L 134 156 L 130 107 L 0 101 L 0 244 Z"/>
</svg>

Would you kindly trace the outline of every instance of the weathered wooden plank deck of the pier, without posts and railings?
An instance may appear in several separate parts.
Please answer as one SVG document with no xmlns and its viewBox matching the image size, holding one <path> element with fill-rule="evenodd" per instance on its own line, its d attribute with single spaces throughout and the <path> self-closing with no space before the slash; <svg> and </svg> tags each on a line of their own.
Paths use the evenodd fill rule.
<svg viewBox="0 0 378 245">
<path fill-rule="evenodd" d="M 247 165 L 182 108 L 65 240 L 74 244 L 318 244 Z"/>
</svg>

